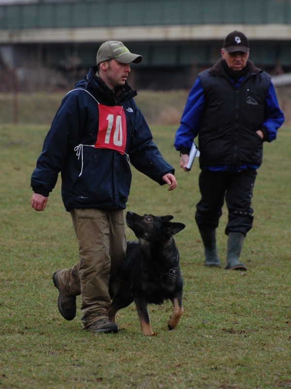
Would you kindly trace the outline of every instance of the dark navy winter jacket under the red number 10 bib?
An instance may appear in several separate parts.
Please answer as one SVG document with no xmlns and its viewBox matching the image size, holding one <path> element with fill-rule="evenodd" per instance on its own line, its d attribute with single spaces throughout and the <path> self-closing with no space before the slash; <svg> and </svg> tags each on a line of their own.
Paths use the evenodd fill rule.
<svg viewBox="0 0 291 389">
<path fill-rule="evenodd" d="M 91 68 L 62 100 L 32 173 L 32 190 L 48 196 L 61 172 L 67 211 L 125 209 L 131 183 L 130 164 L 161 185 L 165 183 L 162 180 L 165 174 L 174 174 L 173 167 L 162 158 L 153 142 L 150 129 L 133 100 L 137 93 L 127 83 L 119 93 L 114 93 L 96 73 L 97 67 Z M 112 149 L 92 147 L 98 131 L 97 102 L 124 108 L 127 124 L 124 155 Z"/>
</svg>

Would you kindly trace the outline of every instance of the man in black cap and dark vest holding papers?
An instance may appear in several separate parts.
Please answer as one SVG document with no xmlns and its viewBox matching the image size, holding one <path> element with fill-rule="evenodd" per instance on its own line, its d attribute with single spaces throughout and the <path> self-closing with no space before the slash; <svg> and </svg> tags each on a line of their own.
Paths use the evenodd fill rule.
<svg viewBox="0 0 291 389">
<path fill-rule="evenodd" d="M 243 240 L 253 225 L 251 198 L 263 142 L 274 141 L 284 123 L 271 77 L 249 57 L 240 31 L 226 36 L 222 58 L 202 71 L 188 96 L 176 132 L 180 167 L 188 171 L 189 151 L 198 135 L 201 199 L 195 220 L 204 244 L 205 265 L 221 267 L 215 230 L 224 201 L 228 209 L 225 269 L 246 270 Z"/>
</svg>

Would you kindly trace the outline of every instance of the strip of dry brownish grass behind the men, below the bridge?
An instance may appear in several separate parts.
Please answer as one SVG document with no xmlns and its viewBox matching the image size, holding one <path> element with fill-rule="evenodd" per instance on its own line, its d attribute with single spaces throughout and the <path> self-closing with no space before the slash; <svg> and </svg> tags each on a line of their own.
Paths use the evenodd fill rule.
<svg viewBox="0 0 291 389">
<path fill-rule="evenodd" d="M 50 124 L 67 91 L 58 93 L 0 93 L 0 124 Z M 188 90 L 140 90 L 135 98 L 148 124 L 178 125 Z M 291 124 L 291 87 L 277 88 L 277 97 Z"/>
</svg>

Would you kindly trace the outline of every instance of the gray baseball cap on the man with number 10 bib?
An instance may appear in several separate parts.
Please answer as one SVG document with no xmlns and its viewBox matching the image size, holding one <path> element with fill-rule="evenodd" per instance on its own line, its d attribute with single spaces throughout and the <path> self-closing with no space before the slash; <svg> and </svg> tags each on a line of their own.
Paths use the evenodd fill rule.
<svg viewBox="0 0 291 389">
<path fill-rule="evenodd" d="M 123 64 L 129 64 L 133 62 L 138 64 L 142 62 L 143 57 L 139 54 L 133 54 L 129 52 L 129 49 L 118 40 L 108 40 L 102 43 L 97 53 L 97 65 L 103 61 L 109 61 L 115 59 Z"/>
</svg>

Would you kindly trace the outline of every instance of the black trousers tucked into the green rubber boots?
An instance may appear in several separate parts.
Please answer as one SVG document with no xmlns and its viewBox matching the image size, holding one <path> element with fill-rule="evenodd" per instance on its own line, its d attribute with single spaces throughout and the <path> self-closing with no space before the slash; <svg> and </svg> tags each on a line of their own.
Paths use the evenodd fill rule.
<svg viewBox="0 0 291 389">
<path fill-rule="evenodd" d="M 212 231 L 218 227 L 226 201 L 226 235 L 229 232 L 240 232 L 245 236 L 253 226 L 251 200 L 256 176 L 255 169 L 240 173 L 203 170 L 199 176 L 201 200 L 196 205 L 195 213 L 199 230 Z"/>
</svg>

